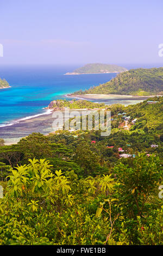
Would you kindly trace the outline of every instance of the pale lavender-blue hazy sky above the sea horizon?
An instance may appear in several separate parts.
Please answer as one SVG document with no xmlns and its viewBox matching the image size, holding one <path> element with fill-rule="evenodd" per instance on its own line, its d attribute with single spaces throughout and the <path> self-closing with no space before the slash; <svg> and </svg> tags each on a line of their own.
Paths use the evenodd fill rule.
<svg viewBox="0 0 163 256">
<path fill-rule="evenodd" d="M 162 0 L 0 0 L 0 65 L 161 65 L 162 10 Z"/>
</svg>

